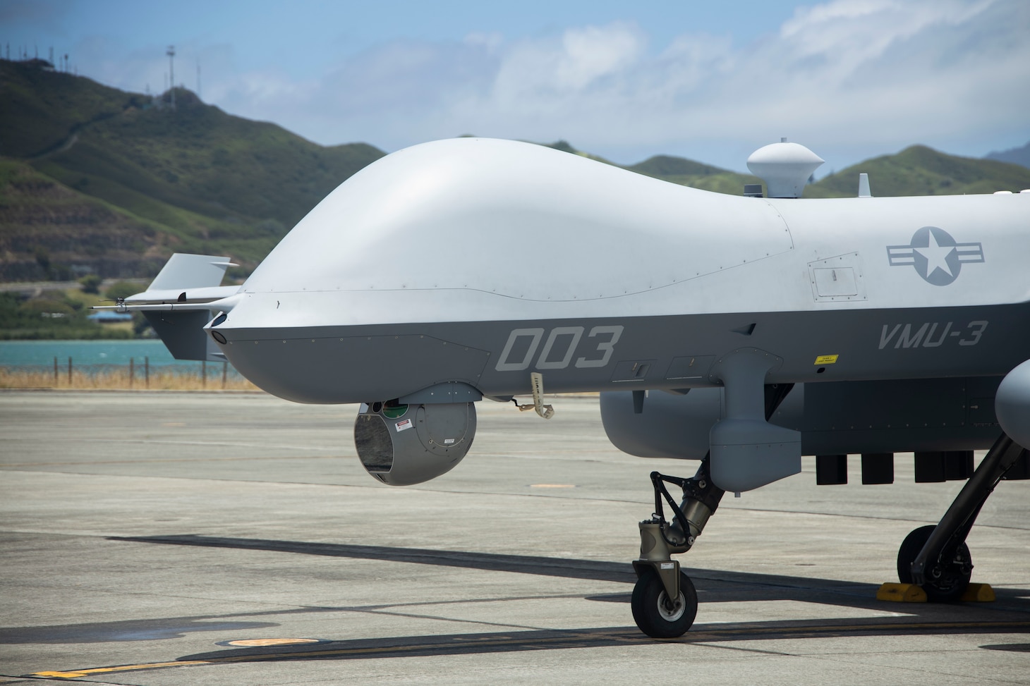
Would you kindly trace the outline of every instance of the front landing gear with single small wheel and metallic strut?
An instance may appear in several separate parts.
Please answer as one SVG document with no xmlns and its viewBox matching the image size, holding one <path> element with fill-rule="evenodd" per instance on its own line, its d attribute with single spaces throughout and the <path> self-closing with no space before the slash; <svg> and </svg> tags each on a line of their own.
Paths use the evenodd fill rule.
<svg viewBox="0 0 1030 686">
<path fill-rule="evenodd" d="M 706 456 L 691 479 L 651 473 L 655 511 L 651 519 L 640 523 L 641 556 L 633 560 L 638 581 L 631 607 L 637 626 L 654 639 L 683 636 L 697 615 L 694 585 L 672 555 L 690 550 L 722 500 L 724 491 L 709 477 L 710 461 Z M 679 505 L 666 483 L 683 489 Z M 665 519 L 662 501 L 673 511 L 672 522 Z"/>
</svg>

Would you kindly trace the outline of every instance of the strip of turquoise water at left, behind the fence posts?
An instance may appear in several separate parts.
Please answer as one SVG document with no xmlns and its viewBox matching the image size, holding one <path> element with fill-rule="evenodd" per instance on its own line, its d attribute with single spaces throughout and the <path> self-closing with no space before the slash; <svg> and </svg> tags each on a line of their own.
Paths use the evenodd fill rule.
<svg viewBox="0 0 1030 686">
<path fill-rule="evenodd" d="M 137 365 L 149 357 L 151 367 L 198 367 L 199 362 L 172 357 L 160 340 L 136 341 L 0 341 L 0 367 L 53 367 L 67 365 L 71 357 L 76 367 L 88 365 Z"/>
</svg>

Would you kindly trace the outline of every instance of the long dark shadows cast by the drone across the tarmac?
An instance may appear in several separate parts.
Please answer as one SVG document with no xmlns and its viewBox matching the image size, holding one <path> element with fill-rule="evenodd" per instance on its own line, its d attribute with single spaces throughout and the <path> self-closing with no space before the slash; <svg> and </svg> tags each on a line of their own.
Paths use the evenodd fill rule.
<svg viewBox="0 0 1030 686">
<path fill-rule="evenodd" d="M 148 543 L 159 545 L 201 546 L 209 548 L 236 548 L 247 550 L 268 550 L 305 555 L 325 555 L 377 559 L 389 562 L 410 562 L 452 568 L 516 572 L 551 577 L 576 578 L 636 583 L 637 577 L 630 564 L 594 560 L 563 559 L 528 555 L 505 555 L 467 551 L 430 550 L 419 548 L 396 548 L 385 546 L 363 546 L 300 541 L 277 541 L 265 539 L 239 539 L 206 536 L 153 536 L 153 537 L 111 537 L 111 540 Z M 972 612 L 977 608 L 957 608 L 955 606 L 905 604 L 886 605 L 876 599 L 876 585 L 855 582 L 812 579 L 783 575 L 727 572 L 722 570 L 687 569 L 694 580 L 699 601 L 754 602 L 792 599 L 848 608 L 867 610 L 885 609 L 903 611 L 902 616 L 863 619 L 814 619 L 762 621 L 734 624 L 695 624 L 684 637 L 682 643 L 712 641 L 745 641 L 757 639 L 799 639 L 826 638 L 833 636 L 894 636 L 911 633 L 976 633 L 987 631 L 1030 632 L 1030 618 L 1022 612 L 1024 596 L 1030 595 L 1025 589 L 999 589 L 999 603 L 1006 609 L 1016 610 L 1019 619 L 1007 620 L 997 615 L 985 616 Z M 608 603 L 629 603 L 630 593 L 607 593 L 586 595 L 585 599 Z M 471 602 L 471 601 L 470 601 Z M 406 604 L 407 605 L 407 604 Z M 410 604 L 420 606 L 426 604 Z M 1021 607 L 1022 606 L 1022 607 Z M 353 610 L 375 611 L 394 608 L 398 605 L 363 606 Z M 322 611 L 328 609 L 322 609 Z M 180 659 L 210 659 L 230 657 L 233 659 L 316 659 L 383 657 L 387 655 L 414 655 L 422 652 L 433 654 L 454 654 L 470 652 L 493 652 L 511 650 L 539 650 L 572 647 L 599 647 L 626 642 L 652 642 L 633 626 L 612 628 L 587 628 L 575 630 L 507 630 L 490 633 L 462 633 L 450 637 L 406 637 L 396 639 L 375 639 L 368 641 L 344 641 L 310 646 L 274 649 L 235 649 L 191 656 Z M 1022 645 L 1022 644 L 1021 644 Z M 985 646 L 986 647 L 986 646 Z M 1023 650 L 1019 646 L 995 647 L 996 649 Z M 249 651 L 249 652 L 248 652 Z M 248 657 L 250 656 L 250 657 Z"/>
</svg>

